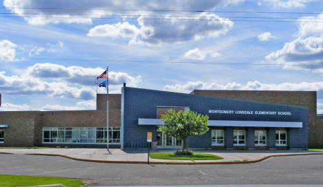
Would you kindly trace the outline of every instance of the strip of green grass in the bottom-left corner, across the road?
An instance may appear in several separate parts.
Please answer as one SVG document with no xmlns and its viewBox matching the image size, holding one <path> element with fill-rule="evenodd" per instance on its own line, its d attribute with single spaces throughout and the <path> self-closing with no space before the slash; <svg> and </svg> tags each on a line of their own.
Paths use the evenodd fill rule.
<svg viewBox="0 0 323 187">
<path fill-rule="evenodd" d="M 47 184 L 63 184 L 65 186 L 84 186 L 84 182 L 77 179 L 59 177 L 39 177 L 28 175 L 0 175 L 0 186 L 37 186 Z"/>
</svg>

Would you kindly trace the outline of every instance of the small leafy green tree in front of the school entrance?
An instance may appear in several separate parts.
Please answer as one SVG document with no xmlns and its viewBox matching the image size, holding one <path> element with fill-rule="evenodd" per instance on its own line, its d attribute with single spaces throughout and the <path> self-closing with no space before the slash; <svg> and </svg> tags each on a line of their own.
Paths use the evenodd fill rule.
<svg viewBox="0 0 323 187">
<path fill-rule="evenodd" d="M 197 112 L 190 110 L 179 110 L 177 113 L 175 110 L 167 110 L 164 115 L 161 115 L 161 120 L 164 126 L 160 126 L 159 130 L 166 136 L 183 140 L 183 152 L 186 149 L 188 137 L 204 135 L 208 131 L 208 116 L 197 115 Z"/>
</svg>

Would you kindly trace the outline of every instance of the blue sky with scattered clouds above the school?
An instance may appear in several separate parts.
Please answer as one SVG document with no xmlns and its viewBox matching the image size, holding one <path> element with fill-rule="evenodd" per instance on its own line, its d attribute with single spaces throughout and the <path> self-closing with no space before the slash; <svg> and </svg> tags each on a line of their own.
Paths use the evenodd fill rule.
<svg viewBox="0 0 323 187">
<path fill-rule="evenodd" d="M 0 110 L 95 110 L 108 66 L 110 93 L 317 91 L 323 113 L 322 57 L 319 0 L 4 0 Z"/>
</svg>

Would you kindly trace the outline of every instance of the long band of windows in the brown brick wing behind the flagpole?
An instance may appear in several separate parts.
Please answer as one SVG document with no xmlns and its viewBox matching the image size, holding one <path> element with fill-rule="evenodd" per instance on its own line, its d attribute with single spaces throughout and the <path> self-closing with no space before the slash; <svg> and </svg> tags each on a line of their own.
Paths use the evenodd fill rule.
<svg viewBox="0 0 323 187">
<path fill-rule="evenodd" d="M 72 128 L 43 128 L 43 143 L 57 144 L 106 144 L 107 137 L 109 143 L 120 144 L 120 128 L 103 127 L 72 127 Z"/>
</svg>

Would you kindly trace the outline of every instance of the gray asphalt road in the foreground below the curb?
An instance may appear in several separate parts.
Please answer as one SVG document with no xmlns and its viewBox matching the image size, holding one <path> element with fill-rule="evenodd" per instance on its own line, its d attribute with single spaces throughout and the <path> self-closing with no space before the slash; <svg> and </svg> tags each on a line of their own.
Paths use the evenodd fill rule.
<svg viewBox="0 0 323 187">
<path fill-rule="evenodd" d="M 323 184 L 323 155 L 276 157 L 256 164 L 150 166 L 3 154 L 0 174 L 78 178 L 93 186 Z"/>
</svg>

